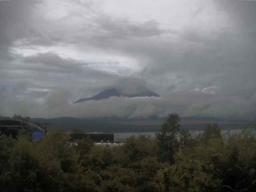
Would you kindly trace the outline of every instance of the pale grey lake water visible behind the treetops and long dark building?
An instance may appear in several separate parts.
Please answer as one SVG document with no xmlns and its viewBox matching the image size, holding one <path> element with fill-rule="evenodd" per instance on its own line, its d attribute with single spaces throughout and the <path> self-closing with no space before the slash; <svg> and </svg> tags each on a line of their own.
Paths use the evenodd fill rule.
<svg viewBox="0 0 256 192">
<path fill-rule="evenodd" d="M 241 129 L 230 129 L 230 134 L 233 134 L 233 133 L 238 133 L 240 132 Z M 199 134 L 199 133 L 202 133 L 204 132 L 203 130 L 193 130 L 193 131 L 190 131 L 190 133 L 192 135 L 196 135 L 196 134 Z M 221 130 L 221 134 L 225 134 L 227 133 L 227 130 Z M 253 132 L 252 132 L 255 136 L 256 136 L 256 130 L 254 129 Z M 115 135 L 119 135 L 119 140 L 120 141 L 123 141 L 125 140 L 126 138 L 129 138 L 130 136 L 134 135 L 136 137 L 140 136 L 140 135 L 149 135 L 151 138 L 156 138 L 156 132 L 115 132 L 114 133 Z"/>
</svg>

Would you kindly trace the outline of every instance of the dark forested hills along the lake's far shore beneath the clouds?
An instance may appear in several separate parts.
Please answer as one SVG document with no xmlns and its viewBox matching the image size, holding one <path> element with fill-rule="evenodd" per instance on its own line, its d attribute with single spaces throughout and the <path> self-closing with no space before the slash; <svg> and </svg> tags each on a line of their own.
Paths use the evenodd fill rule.
<svg viewBox="0 0 256 192">
<path fill-rule="evenodd" d="M 158 120 L 158 123 L 154 121 L 146 121 L 144 124 L 140 123 L 140 120 L 134 120 L 133 122 L 124 122 L 122 119 L 120 122 L 98 122 L 98 119 L 81 119 L 71 117 L 60 118 L 31 118 L 32 122 L 39 122 L 42 126 L 46 126 L 48 130 L 64 129 L 71 131 L 73 128 L 84 130 L 86 132 L 156 132 L 161 128 L 161 124 L 164 120 Z M 208 123 L 218 122 L 215 119 L 195 119 L 184 118 L 181 121 L 181 129 L 187 130 L 203 130 Z M 238 121 L 239 124 L 232 121 L 218 122 L 221 129 L 241 129 L 244 128 L 248 122 Z M 45 125 L 46 124 L 46 125 Z M 145 125 L 146 124 L 146 125 Z"/>
</svg>

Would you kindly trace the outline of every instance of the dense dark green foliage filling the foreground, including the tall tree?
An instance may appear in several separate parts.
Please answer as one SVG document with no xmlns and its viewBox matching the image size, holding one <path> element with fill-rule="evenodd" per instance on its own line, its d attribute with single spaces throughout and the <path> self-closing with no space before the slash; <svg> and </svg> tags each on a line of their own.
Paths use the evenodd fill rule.
<svg viewBox="0 0 256 192">
<path fill-rule="evenodd" d="M 217 124 L 192 136 L 170 114 L 156 139 L 127 138 L 123 146 L 68 142 L 62 131 L 40 142 L 0 136 L 0 171 L 24 192 L 256 191 L 256 138 L 250 126 L 221 135 Z M 177 139 L 179 132 L 180 139 Z"/>
</svg>

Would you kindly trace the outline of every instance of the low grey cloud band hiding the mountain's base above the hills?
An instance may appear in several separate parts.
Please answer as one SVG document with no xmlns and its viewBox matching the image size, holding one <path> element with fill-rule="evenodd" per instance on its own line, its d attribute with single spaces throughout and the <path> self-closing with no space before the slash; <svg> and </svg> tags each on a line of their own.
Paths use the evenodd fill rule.
<svg viewBox="0 0 256 192">
<path fill-rule="evenodd" d="M 0 87 L 0 115 L 26 114 L 32 118 L 97 118 L 106 116 L 147 118 L 165 117 L 178 112 L 183 117 L 256 118 L 256 94 L 250 98 L 221 96 L 198 91 L 180 91 L 161 97 L 110 97 L 99 101 L 72 104 L 67 90 L 48 92 L 24 86 Z"/>
</svg>

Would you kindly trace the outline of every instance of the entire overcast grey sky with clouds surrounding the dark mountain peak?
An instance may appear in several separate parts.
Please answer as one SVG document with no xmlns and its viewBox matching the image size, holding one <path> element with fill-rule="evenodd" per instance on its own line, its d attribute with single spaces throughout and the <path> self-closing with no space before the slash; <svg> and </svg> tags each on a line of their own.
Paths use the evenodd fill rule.
<svg viewBox="0 0 256 192">
<path fill-rule="evenodd" d="M 256 1 L 0 1 L 0 115 L 256 118 Z M 72 104 L 142 84 L 160 98 Z"/>
</svg>

